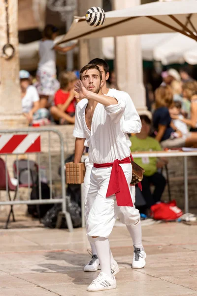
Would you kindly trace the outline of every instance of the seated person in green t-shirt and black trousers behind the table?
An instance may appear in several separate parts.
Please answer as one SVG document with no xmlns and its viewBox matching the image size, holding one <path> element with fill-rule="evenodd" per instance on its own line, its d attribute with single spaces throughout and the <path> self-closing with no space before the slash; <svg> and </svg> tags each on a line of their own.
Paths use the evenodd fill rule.
<svg viewBox="0 0 197 296">
<path fill-rule="evenodd" d="M 140 115 L 140 119 L 142 122 L 141 132 L 131 137 L 131 152 L 162 150 L 159 142 L 149 137 L 151 129 L 150 116 Z M 147 212 L 149 212 L 150 207 L 161 200 L 164 192 L 166 181 L 164 176 L 158 172 L 158 169 L 163 168 L 163 166 L 167 163 L 167 160 L 163 158 L 158 160 L 157 157 L 142 157 L 135 158 L 134 161 L 145 170 L 144 177 L 141 182 L 142 195 L 146 201 Z M 151 184 L 155 186 L 153 193 L 151 193 L 150 190 Z"/>
</svg>

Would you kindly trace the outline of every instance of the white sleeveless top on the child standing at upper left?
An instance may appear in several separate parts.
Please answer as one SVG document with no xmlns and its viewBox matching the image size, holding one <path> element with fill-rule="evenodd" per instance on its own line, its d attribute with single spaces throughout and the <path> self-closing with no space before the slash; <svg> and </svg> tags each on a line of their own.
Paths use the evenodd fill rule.
<svg viewBox="0 0 197 296">
<path fill-rule="evenodd" d="M 39 43 L 38 71 L 47 72 L 51 75 L 56 74 L 56 52 L 53 49 L 55 43 L 53 40 L 44 40 Z"/>
</svg>

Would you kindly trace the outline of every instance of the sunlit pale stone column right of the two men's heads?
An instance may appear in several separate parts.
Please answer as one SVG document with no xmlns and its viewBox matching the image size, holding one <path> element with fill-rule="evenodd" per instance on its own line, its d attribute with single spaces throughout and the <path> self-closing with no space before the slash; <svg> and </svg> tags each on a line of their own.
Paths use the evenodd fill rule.
<svg viewBox="0 0 197 296">
<path fill-rule="evenodd" d="M 139 4 L 140 0 L 113 0 L 113 9 L 124 9 Z M 139 36 L 115 38 L 115 70 L 119 89 L 130 94 L 137 111 L 146 110 Z"/>
</svg>

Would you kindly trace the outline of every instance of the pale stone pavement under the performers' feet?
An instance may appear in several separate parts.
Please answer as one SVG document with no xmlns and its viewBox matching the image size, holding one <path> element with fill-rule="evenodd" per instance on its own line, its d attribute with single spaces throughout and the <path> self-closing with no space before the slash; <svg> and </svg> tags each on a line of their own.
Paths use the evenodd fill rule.
<svg viewBox="0 0 197 296">
<path fill-rule="evenodd" d="M 85 229 L 1 229 L 0 296 L 197 296 L 197 226 L 169 222 L 142 231 L 146 267 L 131 269 L 131 239 L 117 223 L 110 236 L 117 289 L 87 292 L 98 273 L 83 272 Z"/>
</svg>

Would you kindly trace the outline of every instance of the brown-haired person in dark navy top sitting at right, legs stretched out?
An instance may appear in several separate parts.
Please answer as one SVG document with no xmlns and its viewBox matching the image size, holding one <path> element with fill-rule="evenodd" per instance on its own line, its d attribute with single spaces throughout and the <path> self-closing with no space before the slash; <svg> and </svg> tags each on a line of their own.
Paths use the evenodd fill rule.
<svg viewBox="0 0 197 296">
<path fill-rule="evenodd" d="M 157 131 L 156 140 L 163 148 L 192 147 L 197 145 L 197 134 L 183 136 L 175 127 L 169 114 L 173 106 L 173 92 L 170 86 L 160 86 L 155 91 L 156 110 L 153 114 L 153 125 Z M 177 117 L 178 118 L 178 117 Z M 174 137 L 176 132 L 176 138 Z"/>
</svg>

